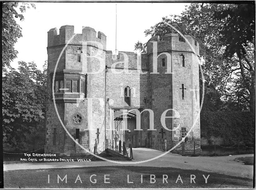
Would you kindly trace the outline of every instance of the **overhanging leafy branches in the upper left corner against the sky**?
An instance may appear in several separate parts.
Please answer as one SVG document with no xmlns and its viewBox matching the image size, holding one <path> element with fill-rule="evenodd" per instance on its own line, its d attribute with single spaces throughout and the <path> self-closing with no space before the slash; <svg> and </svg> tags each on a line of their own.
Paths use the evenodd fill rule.
<svg viewBox="0 0 256 190">
<path fill-rule="evenodd" d="M 32 8 L 36 8 L 30 3 Z M 16 11 L 19 7 L 20 12 L 26 12 L 30 8 L 28 3 L 2 2 L 2 67 L 10 67 L 10 62 L 17 57 L 18 51 L 14 49 L 14 44 L 18 38 L 22 37 L 22 28 L 16 23 L 15 18 L 24 20 L 24 16 Z"/>
</svg>

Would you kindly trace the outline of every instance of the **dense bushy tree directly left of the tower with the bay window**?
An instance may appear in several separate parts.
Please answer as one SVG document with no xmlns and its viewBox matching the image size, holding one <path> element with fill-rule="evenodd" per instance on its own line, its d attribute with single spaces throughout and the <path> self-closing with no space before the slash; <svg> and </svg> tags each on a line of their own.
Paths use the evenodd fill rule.
<svg viewBox="0 0 256 190">
<path fill-rule="evenodd" d="M 48 94 L 46 67 L 42 72 L 34 62 L 19 65 L 2 78 L 2 116 L 5 143 L 22 148 L 29 134 L 45 127 Z"/>
</svg>

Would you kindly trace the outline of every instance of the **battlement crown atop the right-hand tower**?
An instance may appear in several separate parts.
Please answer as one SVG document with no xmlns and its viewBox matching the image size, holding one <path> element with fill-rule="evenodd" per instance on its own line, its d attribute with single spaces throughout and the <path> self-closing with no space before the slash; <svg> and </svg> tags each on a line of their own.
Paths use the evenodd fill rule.
<svg viewBox="0 0 256 190">
<path fill-rule="evenodd" d="M 184 35 L 191 46 L 194 48 L 196 55 L 199 56 L 199 43 L 192 38 L 190 35 Z M 190 44 L 185 40 L 185 42 L 179 40 L 179 35 L 176 33 L 166 34 L 162 41 L 160 41 L 159 36 L 153 36 L 148 40 L 147 54 L 153 52 L 153 43 L 157 42 L 157 51 L 168 52 L 168 51 L 178 51 L 178 52 L 193 52 Z"/>
</svg>

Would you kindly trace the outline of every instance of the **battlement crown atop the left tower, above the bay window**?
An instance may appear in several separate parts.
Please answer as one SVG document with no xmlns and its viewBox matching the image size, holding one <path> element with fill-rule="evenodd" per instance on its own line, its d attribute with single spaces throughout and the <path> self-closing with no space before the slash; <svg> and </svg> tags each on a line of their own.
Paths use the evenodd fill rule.
<svg viewBox="0 0 256 190">
<path fill-rule="evenodd" d="M 48 47 L 67 44 L 73 37 L 69 42 L 70 45 L 82 45 L 82 42 L 92 42 L 88 43 L 88 45 L 99 47 L 97 44 L 101 43 L 103 50 L 106 50 L 106 35 L 103 32 L 98 31 L 97 34 L 94 28 L 83 26 L 82 34 L 74 34 L 74 26 L 72 25 L 61 26 L 60 34 L 57 34 L 57 28 L 52 28 L 48 31 Z"/>
</svg>

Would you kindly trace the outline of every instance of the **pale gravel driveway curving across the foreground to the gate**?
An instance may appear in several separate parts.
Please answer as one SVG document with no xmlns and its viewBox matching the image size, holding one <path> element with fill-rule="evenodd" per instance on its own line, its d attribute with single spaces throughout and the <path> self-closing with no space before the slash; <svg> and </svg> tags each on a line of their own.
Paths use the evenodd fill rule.
<svg viewBox="0 0 256 190">
<path fill-rule="evenodd" d="M 230 176 L 239 176 L 242 178 L 253 178 L 253 166 L 244 165 L 241 162 L 234 161 L 238 157 L 254 156 L 253 154 L 234 155 L 234 156 L 197 156 L 188 157 L 178 154 L 168 153 L 155 160 L 134 164 L 137 161 L 143 161 L 156 156 L 160 156 L 164 152 L 149 148 L 134 148 L 134 160 L 129 164 L 112 163 L 106 161 L 94 162 L 43 162 L 43 163 L 18 163 L 4 164 L 4 171 L 7 170 L 24 170 L 24 169 L 45 169 L 45 168 L 80 168 L 92 166 L 152 166 L 152 167 L 171 167 L 181 169 L 201 170 L 204 172 L 217 172 Z"/>
</svg>

